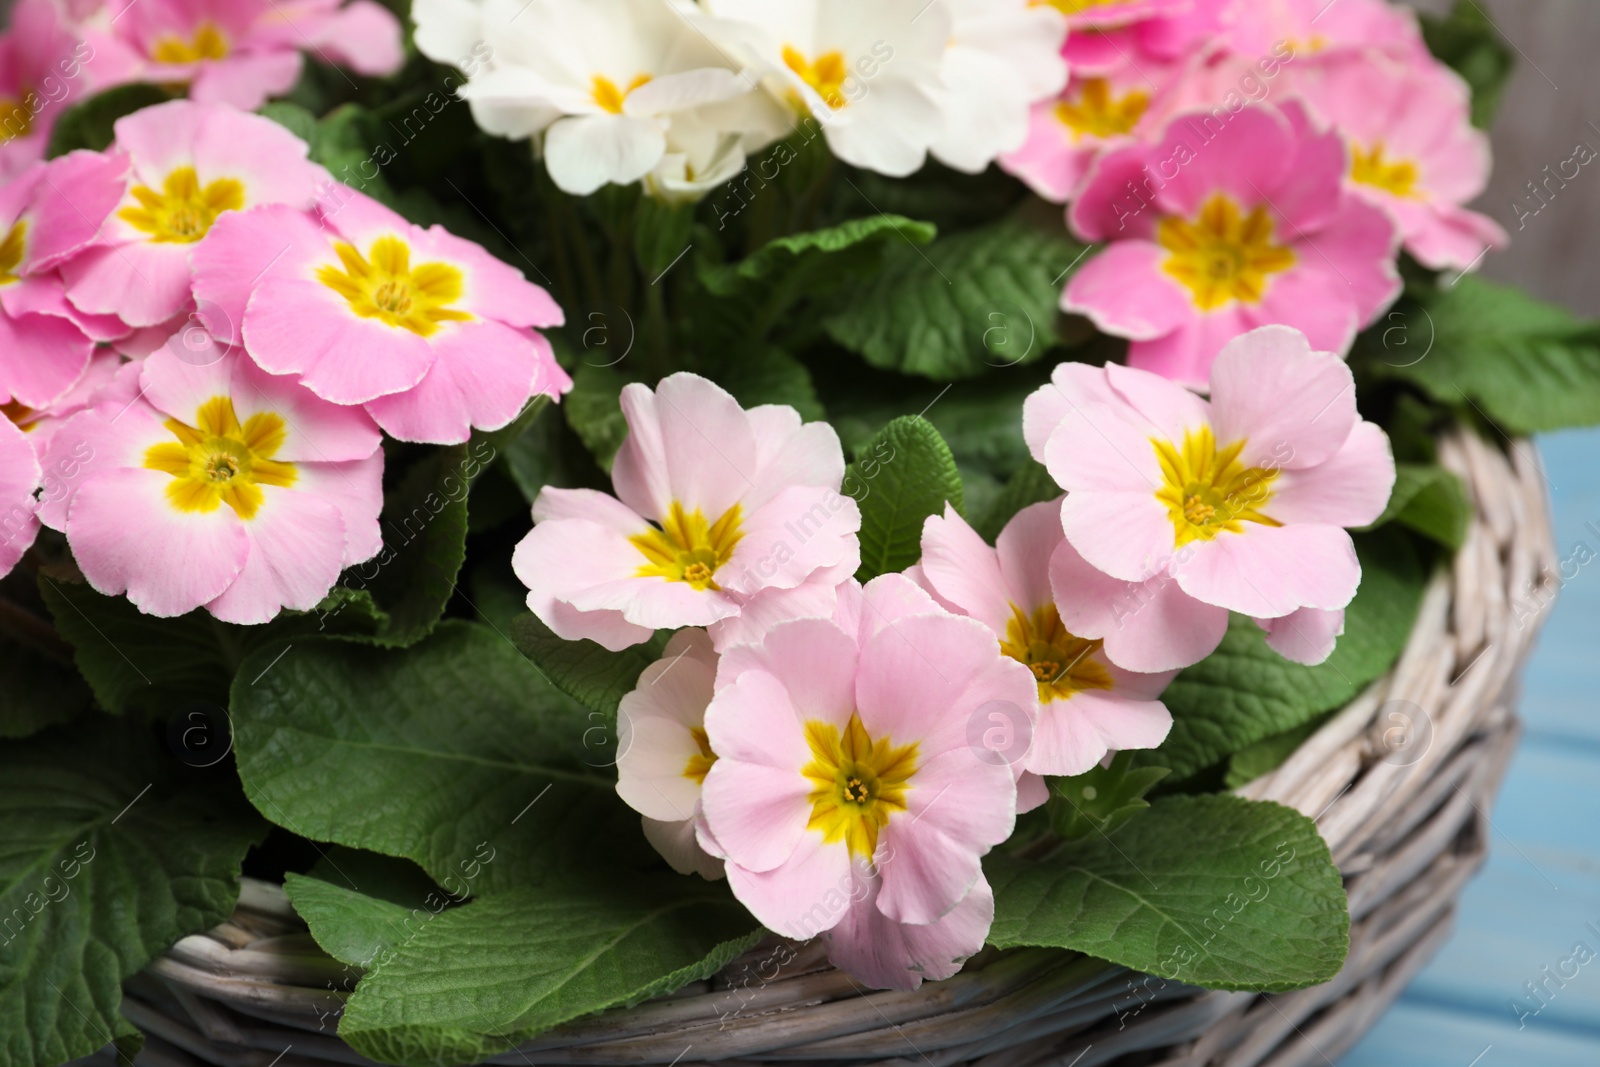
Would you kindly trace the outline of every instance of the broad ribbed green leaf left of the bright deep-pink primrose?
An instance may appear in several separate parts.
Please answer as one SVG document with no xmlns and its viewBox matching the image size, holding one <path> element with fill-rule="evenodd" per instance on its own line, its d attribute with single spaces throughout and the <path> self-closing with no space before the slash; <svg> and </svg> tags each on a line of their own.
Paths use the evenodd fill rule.
<svg viewBox="0 0 1600 1067">
<path fill-rule="evenodd" d="M 1061 275 L 1082 253 L 1064 232 L 1014 218 L 891 248 L 843 294 L 827 333 L 874 366 L 936 381 L 1030 363 L 1056 341 Z"/>
</svg>

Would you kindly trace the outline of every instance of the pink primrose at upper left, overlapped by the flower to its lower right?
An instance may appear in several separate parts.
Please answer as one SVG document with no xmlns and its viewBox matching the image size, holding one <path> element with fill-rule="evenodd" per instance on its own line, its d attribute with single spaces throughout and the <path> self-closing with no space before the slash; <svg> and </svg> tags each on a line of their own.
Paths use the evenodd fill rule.
<svg viewBox="0 0 1600 1067">
<path fill-rule="evenodd" d="M 171 101 L 117 120 L 128 160 L 122 206 L 99 238 L 61 266 L 67 299 L 130 326 L 155 326 L 189 306 L 189 254 L 227 211 L 262 203 L 309 208 L 328 176 L 306 142 L 261 115 Z"/>
</svg>

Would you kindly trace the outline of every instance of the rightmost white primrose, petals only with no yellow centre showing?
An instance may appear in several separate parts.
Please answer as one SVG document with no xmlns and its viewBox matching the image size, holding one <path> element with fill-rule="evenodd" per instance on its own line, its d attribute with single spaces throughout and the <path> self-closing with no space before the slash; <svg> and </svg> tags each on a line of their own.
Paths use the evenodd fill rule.
<svg viewBox="0 0 1600 1067">
<path fill-rule="evenodd" d="M 954 21 L 944 50 L 944 130 L 933 155 L 976 174 L 1027 141 L 1035 102 L 1067 85 L 1067 19 L 1030 0 L 942 0 Z"/>
</svg>

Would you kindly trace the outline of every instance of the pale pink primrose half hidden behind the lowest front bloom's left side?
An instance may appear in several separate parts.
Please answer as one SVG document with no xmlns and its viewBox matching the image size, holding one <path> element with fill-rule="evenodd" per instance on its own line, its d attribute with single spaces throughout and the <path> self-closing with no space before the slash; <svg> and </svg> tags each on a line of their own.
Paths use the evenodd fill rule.
<svg viewBox="0 0 1600 1067">
<path fill-rule="evenodd" d="M 643 817 L 645 837 L 674 870 L 702 878 L 722 877 L 722 861 L 694 840 L 701 785 L 717 761 L 706 739 L 715 680 L 706 630 L 678 630 L 616 715 L 618 795 Z"/>
</svg>

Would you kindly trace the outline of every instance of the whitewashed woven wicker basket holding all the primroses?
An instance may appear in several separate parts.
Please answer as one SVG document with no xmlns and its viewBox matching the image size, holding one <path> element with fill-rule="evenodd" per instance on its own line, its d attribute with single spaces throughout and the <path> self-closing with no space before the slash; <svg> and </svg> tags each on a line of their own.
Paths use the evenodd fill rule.
<svg viewBox="0 0 1600 1067">
<path fill-rule="evenodd" d="M 1429 587 L 1400 662 L 1240 790 L 1314 816 L 1344 872 L 1350 955 L 1334 981 L 1272 997 L 1206 992 L 1022 950 L 986 952 L 917 992 L 867 992 L 810 947 L 776 979 L 755 976 L 768 945 L 709 982 L 579 1019 L 490 1062 L 1331 1064 L 1450 934 L 1517 742 L 1515 678 L 1554 598 L 1533 448 L 1517 443 L 1507 459 L 1462 434 L 1440 458 L 1466 478 L 1477 518 L 1454 568 Z M 1390 715 L 1402 707 L 1410 718 L 1424 709 L 1424 729 L 1397 750 Z M 334 1035 L 344 985 L 282 889 L 246 881 L 230 921 L 128 982 L 123 1013 L 149 1035 L 149 1067 L 366 1064 Z"/>
</svg>

